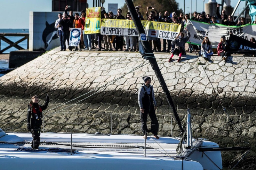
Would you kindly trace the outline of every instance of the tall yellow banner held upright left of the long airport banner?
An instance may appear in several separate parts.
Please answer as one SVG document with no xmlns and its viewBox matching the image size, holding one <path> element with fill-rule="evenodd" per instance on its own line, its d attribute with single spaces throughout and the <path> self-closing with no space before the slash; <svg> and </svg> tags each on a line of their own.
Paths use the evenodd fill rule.
<svg viewBox="0 0 256 170">
<path fill-rule="evenodd" d="M 101 7 L 86 8 L 85 34 L 101 32 Z"/>
</svg>

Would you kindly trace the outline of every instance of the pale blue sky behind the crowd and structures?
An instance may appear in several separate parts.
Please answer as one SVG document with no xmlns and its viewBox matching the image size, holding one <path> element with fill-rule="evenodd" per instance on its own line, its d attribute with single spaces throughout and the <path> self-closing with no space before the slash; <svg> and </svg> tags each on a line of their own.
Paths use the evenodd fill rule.
<svg viewBox="0 0 256 170">
<path fill-rule="evenodd" d="M 197 11 L 202 11 L 203 3 L 208 2 L 208 0 L 185 0 L 185 13 L 189 13 L 191 7 L 192 12 L 195 11 L 195 1 L 197 1 Z M 125 4 L 125 0 L 105 0 L 103 6 L 108 11 L 107 4 L 117 2 L 118 8 Z M 216 2 L 221 3 L 221 0 L 216 0 Z M 231 0 L 232 7 L 235 7 L 236 4 L 237 0 Z M 93 7 L 93 0 L 88 0 L 88 5 Z M 244 6 L 245 2 L 241 2 L 238 10 L 241 11 Z M 179 0 L 179 8 L 184 8 L 184 0 Z M 0 29 L 28 29 L 29 12 L 51 12 L 51 0 L 0 0 L 0 11 L 5 14 L 0 17 Z"/>
</svg>

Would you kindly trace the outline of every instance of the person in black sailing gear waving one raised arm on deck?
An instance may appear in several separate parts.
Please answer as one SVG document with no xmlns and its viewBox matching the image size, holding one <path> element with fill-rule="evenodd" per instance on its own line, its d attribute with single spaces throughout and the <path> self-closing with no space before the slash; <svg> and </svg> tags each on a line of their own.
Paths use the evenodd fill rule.
<svg viewBox="0 0 256 170">
<path fill-rule="evenodd" d="M 43 105 L 38 104 L 39 97 L 33 96 L 31 102 L 28 104 L 27 109 L 27 129 L 32 134 L 32 149 L 38 149 L 40 145 L 40 133 L 43 114 L 42 111 L 45 110 L 49 103 L 49 95 L 46 95 L 45 103 Z"/>
</svg>

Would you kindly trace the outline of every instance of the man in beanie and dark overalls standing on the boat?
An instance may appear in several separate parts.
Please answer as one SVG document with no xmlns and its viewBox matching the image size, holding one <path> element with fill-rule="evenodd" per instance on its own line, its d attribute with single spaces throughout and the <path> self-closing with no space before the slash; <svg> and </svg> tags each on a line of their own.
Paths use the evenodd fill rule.
<svg viewBox="0 0 256 170">
<path fill-rule="evenodd" d="M 142 77 L 144 84 L 139 88 L 138 103 L 141 109 L 141 127 L 143 131 L 146 131 L 144 138 L 147 139 L 147 133 L 151 131 L 155 138 L 158 137 L 158 120 L 155 115 L 155 109 L 157 109 L 157 103 L 155 102 L 154 89 L 150 85 L 151 78 L 149 76 Z M 147 114 L 151 119 L 151 130 L 147 129 Z"/>
</svg>

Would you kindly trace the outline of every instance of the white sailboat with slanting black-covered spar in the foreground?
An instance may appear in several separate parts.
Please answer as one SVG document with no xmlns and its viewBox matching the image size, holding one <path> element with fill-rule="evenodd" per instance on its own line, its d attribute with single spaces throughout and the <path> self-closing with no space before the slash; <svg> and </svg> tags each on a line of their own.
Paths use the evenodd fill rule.
<svg viewBox="0 0 256 170">
<path fill-rule="evenodd" d="M 131 0 L 126 0 L 137 32 L 145 35 Z M 31 149 L 30 133 L 5 133 L 0 129 L 0 164 L 3 169 L 222 169 L 222 150 L 217 143 L 192 137 L 191 114 L 186 133 L 148 41 L 140 41 L 140 52 L 150 61 L 183 135 L 182 138 L 143 135 L 42 133 L 39 149 Z M 185 135 L 186 134 L 186 135 Z M 246 148 L 241 148 L 245 150 Z"/>
</svg>

